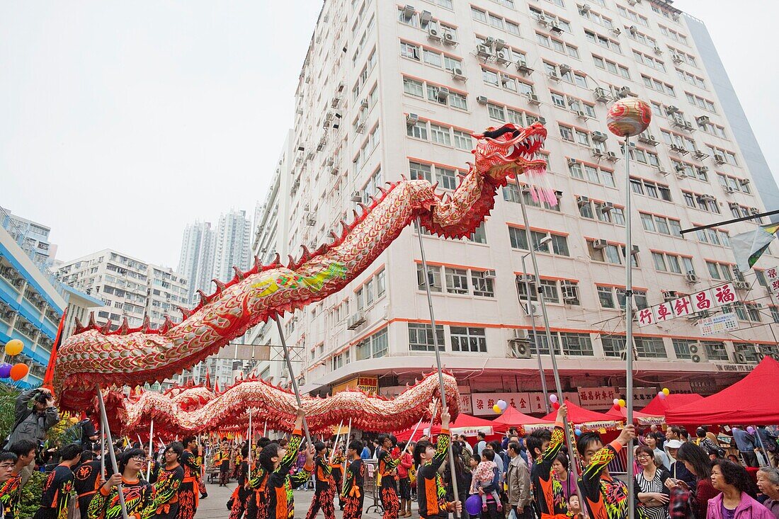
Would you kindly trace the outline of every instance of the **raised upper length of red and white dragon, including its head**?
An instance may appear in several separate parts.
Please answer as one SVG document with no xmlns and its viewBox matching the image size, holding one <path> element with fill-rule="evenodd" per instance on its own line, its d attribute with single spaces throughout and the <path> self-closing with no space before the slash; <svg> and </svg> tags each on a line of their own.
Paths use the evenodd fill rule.
<svg viewBox="0 0 779 519">
<path fill-rule="evenodd" d="M 495 204 L 495 192 L 511 175 L 541 175 L 546 162 L 539 150 L 546 130 L 539 123 L 527 128 L 505 125 L 474 135 L 474 164 L 452 196 L 441 196 L 425 180 L 402 180 L 379 189 L 379 195 L 354 221 L 342 221 L 340 235 L 315 252 L 303 248 L 298 260 L 284 266 L 277 256 L 270 265 L 255 259 L 248 272 L 237 268 L 234 278 L 214 280 L 216 291 L 200 292 L 195 309 L 180 309 L 181 323 L 166 318 L 151 329 L 148 321 L 129 328 L 126 320 L 112 330 L 90 317 L 60 346 L 55 361 L 55 392 L 64 410 L 89 407 L 100 384 L 136 386 L 153 383 L 187 369 L 217 352 L 258 323 L 293 312 L 326 298 L 365 270 L 404 228 L 419 218 L 436 235 L 464 238 L 484 221 Z M 534 189 L 544 199 L 548 189 Z"/>
</svg>

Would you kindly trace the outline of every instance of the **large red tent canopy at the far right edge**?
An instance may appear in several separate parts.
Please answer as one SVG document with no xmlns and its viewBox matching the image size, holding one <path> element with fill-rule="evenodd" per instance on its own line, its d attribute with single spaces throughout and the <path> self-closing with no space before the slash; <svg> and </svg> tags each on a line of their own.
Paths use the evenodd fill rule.
<svg viewBox="0 0 779 519">
<path fill-rule="evenodd" d="M 665 413 L 668 423 L 720 425 L 779 422 L 779 398 L 771 390 L 779 380 L 779 362 L 765 357 L 753 372 L 717 394 Z"/>
</svg>

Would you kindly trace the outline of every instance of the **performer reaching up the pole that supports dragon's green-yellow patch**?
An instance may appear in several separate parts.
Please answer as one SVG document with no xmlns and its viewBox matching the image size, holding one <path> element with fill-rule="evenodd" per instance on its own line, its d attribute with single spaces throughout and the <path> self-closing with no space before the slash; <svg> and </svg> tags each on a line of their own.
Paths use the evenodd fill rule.
<svg viewBox="0 0 779 519">
<path fill-rule="evenodd" d="M 298 449 L 303 440 L 301 427 L 303 425 L 303 409 L 298 409 L 298 418 L 294 423 L 294 430 L 287 447 L 280 447 L 277 443 L 270 443 L 259 454 L 259 464 L 267 473 L 266 503 L 268 519 L 288 519 L 294 514 L 294 501 L 291 500 L 291 481 L 289 471 L 298 457 Z M 313 470 L 313 446 L 309 448 L 305 461 L 305 470 L 298 472 L 305 475 L 305 479 Z M 304 479 L 304 481 L 305 481 Z"/>
</svg>

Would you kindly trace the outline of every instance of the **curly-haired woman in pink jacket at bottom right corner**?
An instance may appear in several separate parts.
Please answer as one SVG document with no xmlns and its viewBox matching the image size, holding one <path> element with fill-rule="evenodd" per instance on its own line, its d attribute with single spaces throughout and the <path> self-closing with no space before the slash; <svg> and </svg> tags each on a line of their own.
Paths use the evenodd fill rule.
<svg viewBox="0 0 779 519">
<path fill-rule="evenodd" d="M 732 461 L 717 459 L 711 468 L 711 485 L 722 493 L 709 500 L 707 519 L 774 519 L 755 494 L 746 469 Z"/>
</svg>

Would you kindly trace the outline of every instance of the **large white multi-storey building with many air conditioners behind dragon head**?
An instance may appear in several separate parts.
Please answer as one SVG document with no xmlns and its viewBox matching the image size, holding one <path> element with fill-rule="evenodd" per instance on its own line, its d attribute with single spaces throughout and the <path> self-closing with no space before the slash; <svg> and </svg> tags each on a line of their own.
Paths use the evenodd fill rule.
<svg viewBox="0 0 779 519">
<path fill-rule="evenodd" d="M 470 239 L 423 236 L 443 363 L 464 392 L 541 387 L 520 304 L 527 295 L 519 281 L 530 269 L 522 263 L 523 196 L 535 244 L 552 239 L 538 262 L 563 384 L 602 397 L 605 389 L 593 389 L 619 390 L 625 380 L 626 161 L 605 115 L 616 98 L 637 95 L 654 118 L 631 150 L 636 306 L 733 279 L 738 302 L 725 310 L 740 329 L 703 337 L 696 324 L 703 314 L 636 327 L 636 385 L 647 387 L 643 394 L 711 393 L 777 353 L 771 329 L 779 310 L 760 269 L 779 260 L 765 256 L 754 272 L 735 273 L 728 237 L 754 229 L 752 221 L 680 235 L 763 211 L 761 194 L 776 191 L 770 179 L 761 192 L 750 182 L 708 66 L 687 17 L 663 0 L 327 0 L 296 92 L 289 188 L 266 212 L 288 212 L 279 220 L 288 226 L 282 238 L 297 256 L 384 181 L 405 175 L 456 188 L 456 173 L 472 159 L 472 132 L 545 122 L 558 207 L 539 207 L 520 178 L 498 193 Z M 280 224 L 267 225 L 260 235 Z M 420 259 L 408 228 L 350 286 L 285 317 L 287 343 L 305 351 L 295 376 L 306 390 L 325 394 L 375 376 L 379 391 L 392 394 L 435 365 Z M 550 359 L 541 360 L 551 383 Z M 478 406 L 467 396 L 463 405 L 488 412 L 471 409 Z"/>
</svg>

